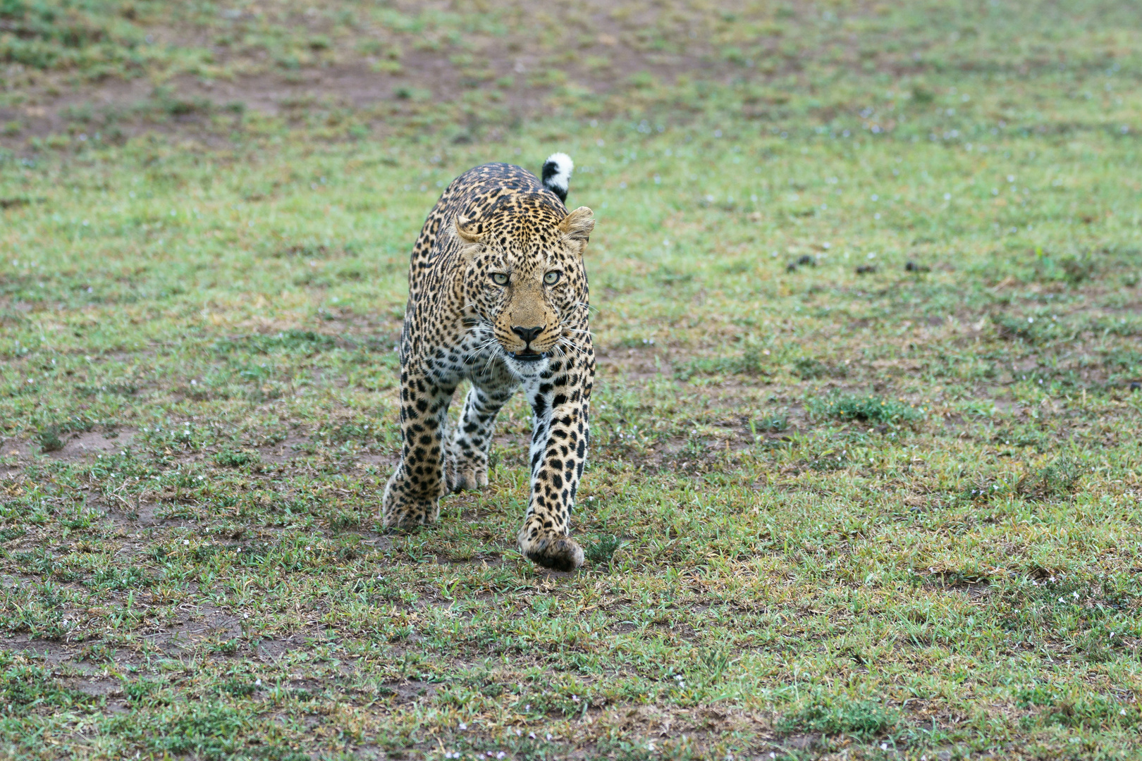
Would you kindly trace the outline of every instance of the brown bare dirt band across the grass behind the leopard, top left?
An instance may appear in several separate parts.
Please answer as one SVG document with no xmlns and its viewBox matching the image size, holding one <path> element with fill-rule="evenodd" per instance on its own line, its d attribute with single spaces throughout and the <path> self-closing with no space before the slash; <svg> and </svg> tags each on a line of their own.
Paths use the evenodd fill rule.
<svg viewBox="0 0 1142 761">
<path fill-rule="evenodd" d="M 154 43 L 202 50 L 218 65 L 231 68 L 224 76 L 147 72 L 135 79 L 111 76 L 67 87 L 62 76 L 32 78 L 22 103 L 0 107 L 0 122 L 17 123 L 18 135 L 0 136 L 0 144 L 19 147 L 30 137 L 72 132 L 94 139 L 98 131 L 116 136 L 146 130 L 204 135 L 222 121 L 239 122 L 241 111 L 288 121 L 305 121 L 311 111 L 352 110 L 372 113 L 376 129 L 386 129 L 423 111 L 424 104 L 483 100 L 506 113 L 501 123 L 533 116 L 549 110 L 547 99 L 564 89 L 579 98 L 606 96 L 632 87 L 630 76 L 673 82 L 679 75 L 727 81 L 740 75 L 740 66 L 715 54 L 702 39 L 687 41 L 674 51 L 648 46 L 638 39 L 646 23 L 666 9 L 646 8 L 635 16 L 614 17 L 610 7 L 549 7 L 537 17 L 522 3 L 498 2 L 494 11 L 523 23 L 504 29 L 504 34 L 468 31 L 463 44 L 393 29 L 362 27 L 338 40 L 336 49 L 317 62 L 275 65 L 265 51 L 243 51 L 244 46 L 219 44 L 208 26 L 151 27 Z M 419 5 L 404 13 L 418 15 Z M 681 10 L 677 9 L 676 13 Z M 694 15 L 685 9 L 687 15 Z M 242 24 L 251 19 L 232 19 Z M 695 18 L 697 21 L 697 18 Z M 289 33 L 324 34 L 327 19 L 309 14 L 268 11 L 262 23 L 283 24 Z M 553 59 L 554 30 L 578 30 L 573 55 Z M 703 29 L 695 24 L 694 29 Z M 378 39 L 379 38 L 379 39 Z M 545 39 L 546 38 L 546 39 Z M 427 42 L 427 43 L 426 43 Z M 370 54 L 355 52 L 362 46 L 381 44 L 401 50 L 399 63 Z M 562 46 L 566 44 L 566 39 Z M 387 63 L 386 63 L 387 60 Z M 378 70 L 379 67 L 379 70 Z M 16 72 L 17 74 L 22 73 Z M 235 116 L 226 120 L 225 115 Z M 231 124 L 230 127 L 233 127 Z"/>
</svg>

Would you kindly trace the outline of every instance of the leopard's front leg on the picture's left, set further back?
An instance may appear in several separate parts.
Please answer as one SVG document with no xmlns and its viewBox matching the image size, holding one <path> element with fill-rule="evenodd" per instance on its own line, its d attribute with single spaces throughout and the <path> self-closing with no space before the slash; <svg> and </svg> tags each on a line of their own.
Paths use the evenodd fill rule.
<svg viewBox="0 0 1142 761">
<path fill-rule="evenodd" d="M 440 516 L 437 500 L 447 492 L 444 446 L 448 405 L 456 384 L 441 383 L 416 366 L 401 371 L 401 461 L 385 486 L 385 526 L 432 524 Z"/>
</svg>

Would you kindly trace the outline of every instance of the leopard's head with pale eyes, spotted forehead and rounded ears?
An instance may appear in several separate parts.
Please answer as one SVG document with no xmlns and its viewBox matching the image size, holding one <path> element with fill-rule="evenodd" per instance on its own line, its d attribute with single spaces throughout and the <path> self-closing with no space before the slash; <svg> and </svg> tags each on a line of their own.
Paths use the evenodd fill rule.
<svg viewBox="0 0 1142 761">
<path fill-rule="evenodd" d="M 595 216 L 587 207 L 568 213 L 548 195 L 505 199 L 489 213 L 455 221 L 467 261 L 465 311 L 516 372 L 563 354 L 587 329 L 582 257 Z"/>
</svg>

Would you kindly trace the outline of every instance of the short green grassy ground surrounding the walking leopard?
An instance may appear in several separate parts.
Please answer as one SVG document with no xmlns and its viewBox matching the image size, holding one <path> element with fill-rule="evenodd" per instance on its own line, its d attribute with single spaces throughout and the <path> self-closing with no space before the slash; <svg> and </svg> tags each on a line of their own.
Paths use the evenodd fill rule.
<svg viewBox="0 0 1142 761">
<path fill-rule="evenodd" d="M 0 32 L 2 107 L 45 110 L 0 159 L 0 753 L 1142 755 L 1128 3 L 586 7 L 614 41 L 518 87 L 472 30 L 542 70 L 563 38 L 529 30 L 572 10 L 53 7 L 114 32 L 77 56 L 184 42 L 102 71 Z M 115 140 L 67 116 L 139 81 L 201 105 L 186 51 L 240 22 L 336 41 L 218 56 L 240 96 L 408 83 Z M 596 44 L 646 76 L 590 80 Z M 464 50 L 496 76 L 439 103 L 453 74 L 408 62 Z M 419 225 L 468 167 L 554 149 L 597 216 L 573 575 L 513 545 L 521 400 L 486 491 L 377 526 Z"/>
</svg>

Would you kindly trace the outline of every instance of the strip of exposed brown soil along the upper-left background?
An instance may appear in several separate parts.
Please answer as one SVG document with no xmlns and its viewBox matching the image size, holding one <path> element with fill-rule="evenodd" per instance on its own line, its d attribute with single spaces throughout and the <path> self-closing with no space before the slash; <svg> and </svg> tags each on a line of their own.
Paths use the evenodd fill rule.
<svg viewBox="0 0 1142 761">
<path fill-rule="evenodd" d="M 407 5 L 410 9 L 420 7 L 419 3 Z M 501 8 L 514 7 L 523 19 L 534 13 L 533 8 L 512 0 L 498 0 L 497 5 Z M 743 70 L 717 55 L 715 47 L 705 39 L 702 14 L 681 5 L 673 9 L 666 5 L 675 3 L 659 5 L 662 7 L 645 6 L 618 19 L 612 17 L 612 6 L 602 1 L 568 7 L 547 6 L 545 14 L 554 18 L 545 17 L 542 23 L 565 30 L 560 49 L 552 48 L 550 40 L 546 43 L 541 41 L 540 25 L 525 21 L 509 29 L 502 38 L 466 34 L 461 55 L 476 59 L 477 66 L 465 67 L 453 63 L 458 54 L 456 46 L 440 44 L 432 49 L 432 46 L 418 44 L 423 40 L 413 35 L 407 35 L 407 39 L 396 35 L 385 42 L 404 49 L 397 73 L 375 71 L 377 60 L 353 52 L 353 44 L 348 41 L 344 49 L 338 44 L 332 60 L 325 60 L 320 66 L 283 71 L 264 60 L 264 54 L 242 57 L 231 48 L 212 44 L 210 34 L 204 34 L 203 30 L 155 30 L 153 37 L 156 44 L 206 47 L 222 64 L 232 63 L 239 70 L 263 73 L 238 75 L 228 81 L 186 75 L 166 79 L 155 73 L 134 80 L 108 79 L 73 87 L 67 87 L 61 75 L 43 75 L 35 86 L 23 88 L 27 95 L 23 104 L 0 108 L 0 123 L 15 121 L 22 126 L 17 135 L 0 136 L 0 145 L 21 149 L 26 147 L 30 137 L 67 131 L 83 132 L 86 137 L 87 132 L 98 131 L 98 116 L 87 124 L 69 120 L 69 111 L 78 106 L 90 106 L 95 114 L 104 110 L 118 112 L 115 127 L 126 135 L 159 130 L 201 136 L 209 116 L 193 110 L 192 113 L 175 116 L 140 115 L 145 111 L 131 115 L 131 108 L 153 97 L 160 80 L 171 97 L 191 103 L 209 102 L 219 107 L 242 104 L 249 111 L 270 115 L 301 116 L 314 107 L 360 112 L 380 105 L 384 108 L 378 110 L 373 127 L 384 129 L 386 122 L 400 121 L 402 113 L 415 111 L 418 98 L 451 104 L 471 97 L 473 91 L 480 92 L 506 112 L 506 121 L 510 122 L 549 111 L 547 97 L 557 87 L 606 96 L 630 88 L 634 74 L 649 74 L 666 83 L 673 83 L 679 76 L 730 81 L 740 78 L 743 71 L 749 71 L 755 78 L 762 76 L 757 70 Z M 682 54 L 653 50 L 637 40 L 638 32 L 652 17 L 668 11 L 675 17 L 679 13 L 691 16 L 693 23 L 683 25 L 703 32 L 701 38 L 691 39 Z M 320 33 L 324 22 L 316 16 L 301 15 L 296 23 Z M 386 33 L 380 35 L 384 38 Z M 372 38 L 370 33 L 363 33 L 360 39 Z M 555 86 L 546 82 L 544 75 L 550 72 L 555 72 L 556 79 L 562 79 L 563 83 Z M 510 84 L 506 83 L 508 78 Z M 410 98 L 410 92 L 423 95 Z"/>
</svg>

